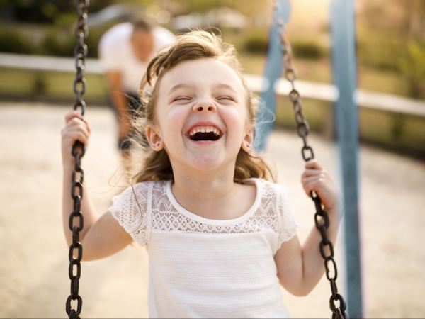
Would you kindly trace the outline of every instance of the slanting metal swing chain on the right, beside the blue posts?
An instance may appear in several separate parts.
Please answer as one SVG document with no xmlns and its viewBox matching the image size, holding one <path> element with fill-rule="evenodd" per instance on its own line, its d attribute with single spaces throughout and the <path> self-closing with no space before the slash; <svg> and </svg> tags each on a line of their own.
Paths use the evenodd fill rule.
<svg viewBox="0 0 425 319">
<path fill-rule="evenodd" d="M 277 1 L 276 1 L 277 5 Z M 302 112 L 302 100 L 300 93 L 295 89 L 294 82 L 297 78 L 297 71 L 292 64 L 292 51 L 290 47 L 290 43 L 288 39 L 285 37 L 285 24 L 281 21 L 280 18 L 276 18 L 275 23 L 278 26 L 278 33 L 280 36 L 280 40 L 282 42 L 282 60 L 283 60 L 283 68 L 285 72 L 285 78 L 292 85 L 292 90 L 289 94 L 289 99 L 293 103 L 293 111 L 295 115 L 295 121 L 297 122 L 297 133 L 302 138 L 302 142 L 304 146 L 302 147 L 301 153 L 302 158 L 305 162 L 310 159 L 314 159 L 314 152 L 312 147 L 307 142 L 307 135 L 310 132 L 310 127 L 305 119 L 304 113 Z M 331 284 L 331 298 L 329 300 L 329 306 L 332 310 L 332 319 L 346 319 L 348 316 L 346 315 L 346 302 L 341 294 L 338 293 L 338 289 L 336 288 L 336 277 L 338 276 L 338 271 L 336 269 L 336 262 L 334 259 L 334 246 L 331 241 L 327 237 L 327 228 L 329 228 L 329 217 L 326 211 L 324 211 L 322 207 L 322 202 L 320 201 L 319 196 L 315 194 L 313 191 L 311 193 L 312 200 L 314 201 L 314 205 L 316 206 L 316 213 L 314 214 L 314 223 L 316 224 L 316 228 L 319 230 L 320 235 L 322 235 L 322 241 L 320 242 L 320 254 L 324 259 L 324 267 L 326 269 L 326 277 Z M 322 217 L 322 220 L 320 220 Z M 329 254 L 325 252 L 325 246 L 329 247 Z M 329 275 L 329 264 L 331 268 L 334 269 L 334 276 Z M 335 305 L 335 302 L 339 301 L 339 307 Z"/>
</svg>

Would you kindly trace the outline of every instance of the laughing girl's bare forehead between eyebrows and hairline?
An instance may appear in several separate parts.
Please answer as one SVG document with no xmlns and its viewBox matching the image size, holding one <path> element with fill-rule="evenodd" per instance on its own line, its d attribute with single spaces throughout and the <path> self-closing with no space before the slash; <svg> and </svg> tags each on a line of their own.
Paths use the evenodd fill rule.
<svg viewBox="0 0 425 319">
<path fill-rule="evenodd" d="M 245 95 L 239 73 L 225 62 L 212 58 L 180 62 L 163 74 L 159 89 L 166 94 L 173 86 L 181 84 L 193 87 L 231 87 L 237 94 Z"/>
</svg>

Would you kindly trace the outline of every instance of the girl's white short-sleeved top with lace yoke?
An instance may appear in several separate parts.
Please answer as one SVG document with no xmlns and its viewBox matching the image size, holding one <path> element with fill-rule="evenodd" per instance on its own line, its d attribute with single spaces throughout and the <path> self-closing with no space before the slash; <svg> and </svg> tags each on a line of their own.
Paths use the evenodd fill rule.
<svg viewBox="0 0 425 319">
<path fill-rule="evenodd" d="M 149 253 L 150 318 L 289 318 L 273 257 L 297 220 L 281 186 L 244 184 L 256 185 L 256 199 L 232 220 L 187 211 L 171 181 L 142 182 L 113 198 L 109 211 Z"/>
</svg>

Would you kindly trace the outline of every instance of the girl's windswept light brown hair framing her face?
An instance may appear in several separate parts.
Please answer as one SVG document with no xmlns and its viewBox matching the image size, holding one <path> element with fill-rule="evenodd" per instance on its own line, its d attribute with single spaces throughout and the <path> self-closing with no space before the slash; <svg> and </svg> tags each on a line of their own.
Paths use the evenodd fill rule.
<svg viewBox="0 0 425 319">
<path fill-rule="evenodd" d="M 160 181 L 174 179 L 171 162 L 166 151 L 160 150 L 156 152 L 150 147 L 142 147 L 142 139 L 147 125 L 153 125 L 155 121 L 155 103 L 157 101 L 159 84 L 164 73 L 186 60 L 197 60 L 201 58 L 211 58 L 226 63 L 234 69 L 242 79 L 244 89 L 247 96 L 247 121 L 254 126 L 256 119 L 256 99 L 254 99 L 251 90 L 247 86 L 242 77 L 242 68 L 237 59 L 237 53 L 233 45 L 222 42 L 222 39 L 217 35 L 212 35 L 205 31 L 192 31 L 180 35 L 176 42 L 168 47 L 168 50 L 159 52 L 147 66 L 147 72 L 142 80 L 141 99 L 144 110 L 143 116 L 139 116 L 133 121 L 135 125 L 135 133 L 138 138 L 135 138 L 136 146 L 139 146 L 142 152 L 140 155 L 143 160 L 140 162 L 140 157 L 133 156 L 136 162 L 141 164 L 133 181 Z M 151 90 L 144 90 L 149 84 Z M 140 115 L 140 113 L 139 113 Z M 133 146 L 135 142 L 132 143 Z M 145 150 L 143 150 L 145 148 Z M 139 159 L 137 161 L 137 158 Z M 135 163 L 137 164 L 137 163 Z M 140 165 L 139 165 L 140 166 Z M 243 179 L 257 177 L 276 181 L 276 178 L 270 167 L 264 162 L 261 157 L 245 152 L 242 147 L 239 150 L 234 167 L 234 181 L 241 183 Z"/>
</svg>

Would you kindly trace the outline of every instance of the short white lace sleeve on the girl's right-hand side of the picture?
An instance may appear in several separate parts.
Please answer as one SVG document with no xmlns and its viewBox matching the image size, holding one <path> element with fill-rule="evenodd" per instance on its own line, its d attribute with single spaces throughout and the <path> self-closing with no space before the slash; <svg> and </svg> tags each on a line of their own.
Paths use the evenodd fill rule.
<svg viewBox="0 0 425 319">
<path fill-rule="evenodd" d="M 300 224 L 290 205 L 288 191 L 279 185 L 276 185 L 276 206 L 279 219 L 278 247 L 280 247 L 283 242 L 287 242 L 297 235 Z"/>
</svg>

